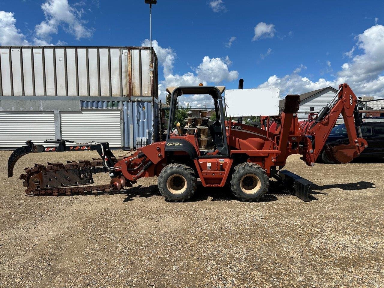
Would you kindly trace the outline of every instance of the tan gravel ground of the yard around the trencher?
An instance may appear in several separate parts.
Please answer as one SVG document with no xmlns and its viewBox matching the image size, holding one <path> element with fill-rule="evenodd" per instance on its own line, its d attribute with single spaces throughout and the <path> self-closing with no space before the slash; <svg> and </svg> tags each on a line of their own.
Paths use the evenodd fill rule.
<svg viewBox="0 0 384 288">
<path fill-rule="evenodd" d="M 30 154 L 8 179 L 9 155 L 0 151 L 0 287 L 384 286 L 382 160 L 308 167 L 291 156 L 286 169 L 314 182 L 308 203 L 244 203 L 201 185 L 170 203 L 155 178 L 117 194 L 27 197 L 23 168 L 96 155 Z"/>
</svg>

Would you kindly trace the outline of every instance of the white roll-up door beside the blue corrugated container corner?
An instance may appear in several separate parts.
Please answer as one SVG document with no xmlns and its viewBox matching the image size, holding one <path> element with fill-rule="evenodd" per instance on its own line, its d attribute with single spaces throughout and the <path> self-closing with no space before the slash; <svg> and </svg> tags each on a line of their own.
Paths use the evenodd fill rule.
<svg viewBox="0 0 384 288">
<path fill-rule="evenodd" d="M 121 147 L 120 109 L 61 112 L 61 139 L 109 142 Z"/>
</svg>

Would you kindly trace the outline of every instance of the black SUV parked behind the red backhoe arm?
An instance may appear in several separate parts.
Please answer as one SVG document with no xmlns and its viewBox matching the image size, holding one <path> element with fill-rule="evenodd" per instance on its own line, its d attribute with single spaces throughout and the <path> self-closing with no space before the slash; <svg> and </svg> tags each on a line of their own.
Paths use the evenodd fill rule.
<svg viewBox="0 0 384 288">
<path fill-rule="evenodd" d="M 368 148 L 362 151 L 360 157 L 384 157 L 384 122 L 364 122 L 361 126 L 362 137 L 367 140 Z M 331 146 L 348 144 L 347 129 L 344 124 L 335 126 L 327 139 L 326 144 Z M 335 162 L 321 152 L 321 159 L 326 164 Z"/>
</svg>

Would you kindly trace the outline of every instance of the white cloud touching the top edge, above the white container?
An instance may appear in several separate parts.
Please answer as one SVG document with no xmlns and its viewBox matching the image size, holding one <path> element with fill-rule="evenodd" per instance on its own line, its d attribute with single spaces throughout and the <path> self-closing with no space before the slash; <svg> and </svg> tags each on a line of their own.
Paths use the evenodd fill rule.
<svg viewBox="0 0 384 288">
<path fill-rule="evenodd" d="M 41 9 L 45 20 L 35 27 L 38 38 L 50 41 L 51 35 L 58 33 L 59 26 L 74 35 L 76 40 L 92 36 L 93 29 L 87 28 L 86 21 L 81 19 L 84 10 L 69 5 L 68 0 L 46 0 L 41 4 Z"/>
</svg>

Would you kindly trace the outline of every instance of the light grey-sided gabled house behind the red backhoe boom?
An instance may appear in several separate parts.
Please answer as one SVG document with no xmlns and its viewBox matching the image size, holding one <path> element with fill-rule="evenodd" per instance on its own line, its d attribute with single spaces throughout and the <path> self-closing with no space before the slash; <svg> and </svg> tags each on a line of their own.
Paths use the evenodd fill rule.
<svg viewBox="0 0 384 288">
<path fill-rule="evenodd" d="M 328 86 L 299 95 L 300 109 L 297 113 L 299 121 L 308 119 L 310 113 L 319 113 L 319 111 L 333 99 L 337 91 L 337 89 Z M 284 108 L 284 102 L 285 99 L 280 100 L 280 111 Z M 358 101 L 358 106 L 364 108 L 364 104 L 360 101 Z M 340 116 L 340 118 L 342 118 L 342 116 Z"/>
</svg>

